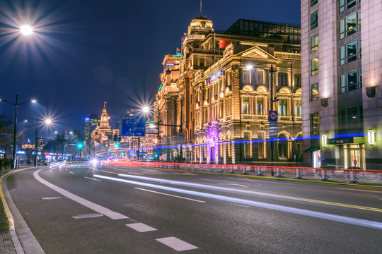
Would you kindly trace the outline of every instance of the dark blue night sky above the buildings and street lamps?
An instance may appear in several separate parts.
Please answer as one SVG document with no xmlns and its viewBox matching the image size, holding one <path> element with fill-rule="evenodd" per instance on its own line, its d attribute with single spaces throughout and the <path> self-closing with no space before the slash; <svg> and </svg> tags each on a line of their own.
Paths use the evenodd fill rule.
<svg viewBox="0 0 382 254">
<path fill-rule="evenodd" d="M 18 127 L 25 119 L 54 119 L 43 135 L 83 132 L 88 114 L 108 114 L 152 104 L 165 54 L 176 54 L 199 0 L 0 0 L 0 98 L 15 102 Z M 300 23 L 299 0 L 203 0 L 202 16 L 215 30 L 239 18 Z M 35 27 L 23 37 L 19 25 Z M 0 114 L 13 119 L 14 107 L 0 102 Z M 33 142 L 34 127 L 28 125 Z"/>
</svg>

